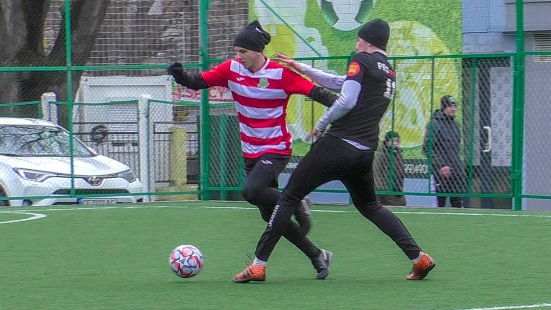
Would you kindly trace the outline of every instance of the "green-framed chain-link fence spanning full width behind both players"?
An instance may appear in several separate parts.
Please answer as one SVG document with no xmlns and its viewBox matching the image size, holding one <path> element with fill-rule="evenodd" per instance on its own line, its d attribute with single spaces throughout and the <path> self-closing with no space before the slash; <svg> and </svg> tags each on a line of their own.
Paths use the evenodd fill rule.
<svg viewBox="0 0 551 310">
<path fill-rule="evenodd" d="M 13 27 L 27 31 L 6 32 L 0 50 L 0 113 L 13 117 L 0 118 L 6 150 L 0 202 L 241 199 L 245 175 L 231 93 L 177 85 L 166 66 L 182 62 L 187 72 L 199 73 L 234 57 L 235 34 L 258 19 L 272 34 L 267 56 L 283 52 L 344 75 L 356 28 L 372 16 L 391 24 L 388 51 L 397 77 L 375 156 L 380 198 L 402 204 L 407 196 L 408 205 L 435 206 L 439 197 L 451 196 L 457 198 L 446 204 L 512 208 L 513 197 L 551 197 L 544 138 L 551 128 L 543 108 L 551 76 L 548 34 L 527 37 L 536 42 L 533 52 L 461 55 L 461 2 L 419 3 L 393 10 L 387 10 L 390 0 L 350 6 L 313 0 L 14 5 L 19 18 Z M 436 17 L 442 7 L 451 13 Z M 37 24 L 42 26 L 26 28 Z M 446 95 L 455 111 L 447 110 L 449 97 L 442 105 Z M 304 138 L 325 110 L 291 96 L 293 157 L 280 186 L 310 149 Z M 522 144 L 516 144 L 519 132 Z M 316 192 L 346 194 L 340 182 Z"/>
</svg>

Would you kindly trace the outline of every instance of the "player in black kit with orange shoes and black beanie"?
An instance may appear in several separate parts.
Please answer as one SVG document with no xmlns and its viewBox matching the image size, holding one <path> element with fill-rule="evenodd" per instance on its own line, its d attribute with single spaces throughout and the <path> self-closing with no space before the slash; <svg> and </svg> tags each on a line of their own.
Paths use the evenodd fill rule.
<svg viewBox="0 0 551 310">
<path fill-rule="evenodd" d="M 392 211 L 381 205 L 375 195 L 373 157 L 379 142 L 379 122 L 395 93 L 396 75 L 386 55 L 390 27 L 386 21 L 373 19 L 358 32 L 356 53 L 345 77 L 323 73 L 287 57 L 280 57 L 299 72 L 308 75 L 327 89 L 341 94 L 317 122 L 310 137 L 318 140 L 296 167 L 276 205 L 268 226 L 258 241 L 255 259 L 234 278 L 236 283 L 264 281 L 266 262 L 291 215 L 301 199 L 323 183 L 339 180 L 347 187 L 354 206 L 390 237 L 413 262 L 408 280 L 421 280 L 436 263 L 423 253 L 404 224 Z M 327 126 L 331 124 L 331 128 Z M 322 137 L 322 133 L 325 134 Z M 320 253 L 320 261 L 329 274 L 332 253 Z"/>
</svg>

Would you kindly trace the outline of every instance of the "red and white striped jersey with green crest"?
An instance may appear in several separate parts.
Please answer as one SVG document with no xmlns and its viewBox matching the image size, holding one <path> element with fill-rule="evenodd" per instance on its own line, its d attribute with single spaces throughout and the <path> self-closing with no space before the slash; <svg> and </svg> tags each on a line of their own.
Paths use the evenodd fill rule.
<svg viewBox="0 0 551 310">
<path fill-rule="evenodd" d="M 231 59 L 201 73 L 209 87 L 225 86 L 234 97 L 243 156 L 291 155 L 292 137 L 285 117 L 292 94 L 308 95 L 314 83 L 282 64 L 266 60 L 257 72 Z"/>
</svg>

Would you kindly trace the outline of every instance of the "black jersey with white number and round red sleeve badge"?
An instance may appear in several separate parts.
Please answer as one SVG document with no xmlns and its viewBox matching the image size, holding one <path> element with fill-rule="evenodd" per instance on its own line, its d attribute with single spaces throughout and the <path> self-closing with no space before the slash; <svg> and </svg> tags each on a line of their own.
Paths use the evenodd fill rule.
<svg viewBox="0 0 551 310">
<path fill-rule="evenodd" d="M 376 150 L 379 122 L 394 96 L 396 74 L 385 54 L 360 52 L 352 56 L 346 80 L 361 85 L 358 101 L 352 110 L 332 123 L 326 134 Z"/>
</svg>

